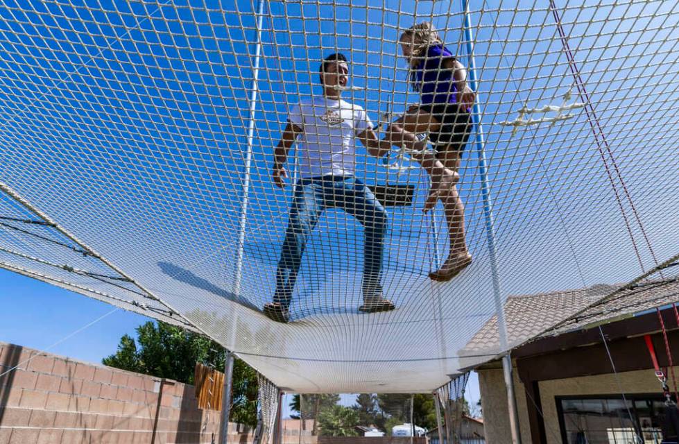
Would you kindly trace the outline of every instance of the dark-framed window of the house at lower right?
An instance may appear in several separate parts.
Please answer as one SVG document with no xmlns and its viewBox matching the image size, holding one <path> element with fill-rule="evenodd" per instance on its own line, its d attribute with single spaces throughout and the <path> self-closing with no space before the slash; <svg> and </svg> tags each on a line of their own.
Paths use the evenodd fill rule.
<svg viewBox="0 0 679 444">
<path fill-rule="evenodd" d="M 660 444 L 662 395 L 557 397 L 565 444 Z"/>
</svg>

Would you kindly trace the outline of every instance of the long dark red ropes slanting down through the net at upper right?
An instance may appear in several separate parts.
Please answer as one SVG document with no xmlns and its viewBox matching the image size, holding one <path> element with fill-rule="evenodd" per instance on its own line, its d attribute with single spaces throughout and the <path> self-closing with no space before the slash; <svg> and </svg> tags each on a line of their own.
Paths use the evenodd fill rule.
<svg viewBox="0 0 679 444">
<path fill-rule="evenodd" d="M 596 112 L 594 111 L 594 106 L 590 102 L 590 95 L 587 94 L 587 90 L 585 89 L 585 82 L 583 81 L 583 78 L 580 75 L 580 71 L 578 70 L 578 67 L 575 64 L 575 57 L 573 56 L 573 52 L 571 51 L 571 47 L 568 43 L 568 38 L 566 36 L 566 33 L 563 30 L 563 26 L 561 24 L 561 17 L 559 15 L 558 10 L 556 10 L 556 4 L 554 3 L 554 0 L 549 0 L 549 3 L 550 3 L 550 6 L 551 6 L 552 14 L 554 15 L 554 19 L 556 20 L 556 26 L 557 26 L 557 29 L 559 31 L 561 43 L 564 47 L 566 57 L 568 58 L 568 67 L 570 68 L 571 73 L 573 74 L 573 77 L 575 78 L 576 87 L 578 88 L 578 95 L 580 96 L 580 99 L 585 103 L 585 112 L 587 113 L 587 121 L 590 123 L 590 128 L 592 128 L 592 133 L 594 134 L 594 140 L 596 140 L 596 146 L 597 146 L 597 148 L 599 148 L 599 153 L 601 154 L 601 160 L 603 160 L 603 166 L 605 167 L 606 174 L 608 175 L 608 180 L 610 180 L 610 185 L 613 188 L 615 198 L 618 202 L 618 206 L 620 207 L 622 217 L 625 221 L 627 232 L 630 235 L 630 239 L 632 240 L 632 245 L 633 245 L 635 253 L 637 255 L 637 259 L 639 260 L 639 266 L 641 266 L 642 273 L 643 273 L 643 272 L 645 272 L 644 262 L 642 261 L 641 254 L 639 253 L 637 241 L 634 238 L 634 234 L 632 232 L 630 222 L 627 219 L 627 214 L 625 212 L 624 206 L 622 205 L 622 200 L 620 198 L 618 189 L 615 186 L 615 182 L 613 180 L 613 176 L 612 176 L 612 173 L 610 171 L 610 167 L 608 166 L 608 162 L 606 161 L 606 153 L 608 153 L 608 157 L 610 157 L 610 161 L 613 165 L 613 168 L 615 169 L 615 173 L 617 175 L 618 180 L 620 181 L 620 185 L 622 185 L 622 189 L 624 191 L 624 194 L 627 198 L 628 203 L 630 204 L 630 207 L 631 207 L 632 212 L 635 216 L 635 219 L 637 220 L 637 224 L 639 225 L 639 229 L 641 230 L 642 235 L 644 236 L 644 240 L 646 241 L 646 246 L 648 246 L 648 250 L 651 252 L 651 256 L 653 257 L 653 262 L 655 262 L 655 266 L 660 265 L 660 263 L 657 262 L 657 258 L 655 257 L 655 251 L 653 251 L 653 247 L 651 246 L 651 241 L 648 239 L 648 235 L 646 234 L 646 230 L 644 229 L 644 225 L 642 224 L 642 220 L 639 217 L 639 213 L 637 212 L 637 208 L 634 205 L 634 202 L 632 200 L 632 196 L 630 195 L 630 192 L 627 189 L 627 185 L 625 184 L 625 181 L 622 178 L 622 174 L 620 173 L 620 169 L 617 165 L 617 162 L 615 162 L 615 157 L 613 157 L 613 152 L 610 148 L 610 145 L 608 144 L 608 139 L 606 139 L 605 133 L 603 133 L 603 128 L 601 128 L 601 124 L 599 123 L 599 119 L 596 117 Z M 596 123 L 596 128 L 594 126 L 595 123 Z M 606 153 L 604 153 L 603 148 L 601 146 L 601 142 L 599 142 L 599 136 L 601 136 L 601 141 L 605 145 Z M 660 271 L 660 277 L 661 278 L 663 277 L 662 271 Z"/>
</svg>

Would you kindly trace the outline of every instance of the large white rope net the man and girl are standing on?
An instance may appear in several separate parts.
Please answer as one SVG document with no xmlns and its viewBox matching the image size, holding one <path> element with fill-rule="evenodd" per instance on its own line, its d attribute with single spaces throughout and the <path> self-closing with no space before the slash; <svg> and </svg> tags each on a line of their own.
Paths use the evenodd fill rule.
<svg viewBox="0 0 679 444">
<path fill-rule="evenodd" d="M 461 354 L 490 359 L 632 290 L 626 284 L 641 276 L 673 279 L 677 268 L 647 273 L 678 253 L 679 6 L 488 0 L 469 8 L 3 3 L 0 266 L 191 325 L 300 393 L 431 393 L 465 365 Z M 272 184 L 286 119 L 320 94 L 318 65 L 336 51 L 350 60 L 344 99 L 375 124 L 418 103 L 397 42 L 422 21 L 466 67 L 474 44 L 481 125 L 458 171 L 474 262 L 450 282 L 429 279 L 449 242 L 441 204 L 422 212 L 428 173 L 408 155 L 393 153 L 386 165 L 358 144 L 356 178 L 414 187 L 410 205 L 387 209 L 381 284 L 397 309 L 356 310 L 365 230 L 328 209 L 300 264 L 293 323 L 274 323 L 261 307 L 273 297 L 303 157 L 294 146 L 287 186 Z M 41 214 L 58 227 L 8 219 L 45 221 Z M 596 284 L 608 287 L 578 296 Z M 488 323 L 510 296 L 555 291 L 565 293 L 544 311 L 517 314 L 517 330 L 508 316 L 506 341 Z M 676 299 L 635 295 L 618 314 Z M 478 332 L 488 340 L 470 348 Z"/>
</svg>

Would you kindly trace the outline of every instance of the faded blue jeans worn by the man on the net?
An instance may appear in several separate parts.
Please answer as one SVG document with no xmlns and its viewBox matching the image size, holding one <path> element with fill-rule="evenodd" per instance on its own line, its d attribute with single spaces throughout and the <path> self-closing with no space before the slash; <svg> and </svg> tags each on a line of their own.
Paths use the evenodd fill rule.
<svg viewBox="0 0 679 444">
<path fill-rule="evenodd" d="M 363 298 L 381 297 L 386 211 L 370 188 L 354 176 L 323 176 L 302 179 L 295 186 L 288 228 L 276 271 L 273 302 L 289 307 L 307 239 L 326 208 L 341 208 L 358 219 L 365 228 Z"/>
</svg>

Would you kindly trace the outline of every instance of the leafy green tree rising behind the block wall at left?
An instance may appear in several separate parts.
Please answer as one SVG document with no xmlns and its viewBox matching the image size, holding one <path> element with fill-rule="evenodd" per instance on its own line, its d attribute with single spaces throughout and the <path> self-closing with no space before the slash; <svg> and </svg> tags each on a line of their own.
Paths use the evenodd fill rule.
<svg viewBox="0 0 679 444">
<path fill-rule="evenodd" d="M 105 366 L 184 384 L 194 384 L 196 362 L 224 371 L 224 349 L 212 339 L 162 322 L 149 321 L 136 330 L 137 341 L 124 335 L 118 351 L 102 359 Z M 241 359 L 234 359 L 232 421 L 257 425 L 257 392 L 257 372 Z"/>
</svg>

